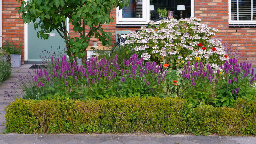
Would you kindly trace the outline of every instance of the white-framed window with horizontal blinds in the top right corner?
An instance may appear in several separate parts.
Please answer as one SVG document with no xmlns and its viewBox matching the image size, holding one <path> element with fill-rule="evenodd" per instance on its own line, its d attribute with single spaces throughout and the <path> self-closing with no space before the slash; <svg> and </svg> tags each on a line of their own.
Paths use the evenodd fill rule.
<svg viewBox="0 0 256 144">
<path fill-rule="evenodd" d="M 229 23 L 256 23 L 256 0 L 229 0 Z"/>
</svg>

